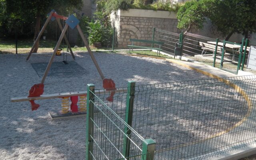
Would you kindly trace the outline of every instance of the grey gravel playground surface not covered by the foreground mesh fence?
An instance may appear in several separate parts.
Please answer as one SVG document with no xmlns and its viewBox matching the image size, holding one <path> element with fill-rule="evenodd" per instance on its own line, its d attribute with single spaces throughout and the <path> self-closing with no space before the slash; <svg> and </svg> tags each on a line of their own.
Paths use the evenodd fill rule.
<svg viewBox="0 0 256 160">
<path fill-rule="evenodd" d="M 95 58 L 106 78 L 116 86 L 126 86 L 128 80 L 136 84 L 154 84 L 209 78 L 194 70 L 183 68 L 165 60 L 95 53 Z M 28 62 L 26 55 L 0 55 L 0 160 L 83 160 L 85 159 L 86 118 L 51 120 L 48 111 L 60 110 L 60 100 L 37 101 L 41 106 L 30 110 L 29 102 L 10 102 L 12 97 L 27 96 L 33 84 L 41 77 L 31 63 L 48 62 L 50 54 L 33 54 Z M 62 57 L 56 57 L 56 62 Z M 72 61 L 70 55 L 68 60 Z M 86 90 L 94 83 L 102 88 L 102 80 L 88 54 L 76 54 L 76 63 L 84 70 L 73 76 L 48 76 L 44 94 Z M 80 74 L 79 74 L 80 73 Z"/>
</svg>

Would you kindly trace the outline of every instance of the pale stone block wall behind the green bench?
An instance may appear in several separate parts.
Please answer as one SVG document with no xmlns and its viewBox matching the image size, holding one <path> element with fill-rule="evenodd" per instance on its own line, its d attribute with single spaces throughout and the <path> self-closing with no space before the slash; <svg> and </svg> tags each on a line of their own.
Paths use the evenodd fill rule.
<svg viewBox="0 0 256 160">
<path fill-rule="evenodd" d="M 175 19 L 175 13 L 146 10 L 148 13 L 144 14 L 141 12 L 138 13 L 134 9 L 130 9 L 129 12 L 112 13 L 110 16 L 112 25 L 116 27 L 116 44 L 118 48 L 127 48 L 127 45 L 131 44 L 129 41 L 130 38 L 152 40 L 152 30 L 154 27 L 160 28 L 161 30 L 180 32 L 176 27 L 178 20 Z M 160 15 L 157 15 L 157 12 Z M 156 16 L 152 13 L 156 14 Z M 143 44 L 143 46 L 147 45 L 150 46 L 150 44 Z"/>
</svg>

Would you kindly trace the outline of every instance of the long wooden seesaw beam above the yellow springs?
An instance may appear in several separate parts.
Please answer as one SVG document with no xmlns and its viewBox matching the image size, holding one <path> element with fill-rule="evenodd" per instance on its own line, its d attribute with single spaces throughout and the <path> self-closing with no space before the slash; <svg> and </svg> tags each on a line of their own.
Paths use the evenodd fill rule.
<svg viewBox="0 0 256 160">
<path fill-rule="evenodd" d="M 121 93 L 127 92 L 128 90 L 98 90 L 95 94 L 106 94 L 106 93 Z M 46 99 L 54 99 L 54 98 L 64 98 L 64 97 L 71 97 L 71 96 L 86 96 L 87 91 L 82 92 L 66 92 L 66 93 L 56 93 L 56 94 L 42 94 L 39 97 L 14 97 L 11 98 L 11 102 L 24 102 L 30 100 L 46 100 Z"/>
</svg>

